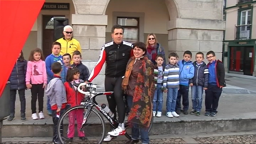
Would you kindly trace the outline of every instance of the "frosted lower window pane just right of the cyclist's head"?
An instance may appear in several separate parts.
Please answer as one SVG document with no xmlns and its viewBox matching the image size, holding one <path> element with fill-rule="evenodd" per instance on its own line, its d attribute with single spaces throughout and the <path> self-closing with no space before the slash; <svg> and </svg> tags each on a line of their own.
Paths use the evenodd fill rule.
<svg viewBox="0 0 256 144">
<path fill-rule="evenodd" d="M 124 41 L 128 41 L 130 43 L 137 42 L 138 39 L 138 32 L 137 28 L 124 28 Z"/>
</svg>

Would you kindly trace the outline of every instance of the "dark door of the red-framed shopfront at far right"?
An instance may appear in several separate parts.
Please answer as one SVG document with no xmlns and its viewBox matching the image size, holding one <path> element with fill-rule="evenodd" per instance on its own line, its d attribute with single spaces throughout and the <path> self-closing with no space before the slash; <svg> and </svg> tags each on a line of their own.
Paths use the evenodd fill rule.
<svg viewBox="0 0 256 144">
<path fill-rule="evenodd" d="M 244 75 L 252 75 L 253 73 L 253 57 L 254 57 L 254 50 L 253 47 L 245 47 L 244 52 Z"/>
</svg>

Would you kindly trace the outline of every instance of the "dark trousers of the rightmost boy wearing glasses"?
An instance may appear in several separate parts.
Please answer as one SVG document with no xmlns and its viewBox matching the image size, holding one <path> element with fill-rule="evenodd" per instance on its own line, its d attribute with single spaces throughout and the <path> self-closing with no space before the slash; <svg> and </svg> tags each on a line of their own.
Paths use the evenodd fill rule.
<svg viewBox="0 0 256 144">
<path fill-rule="evenodd" d="M 217 113 L 218 101 L 222 93 L 222 88 L 209 84 L 205 90 L 205 111 Z"/>
</svg>

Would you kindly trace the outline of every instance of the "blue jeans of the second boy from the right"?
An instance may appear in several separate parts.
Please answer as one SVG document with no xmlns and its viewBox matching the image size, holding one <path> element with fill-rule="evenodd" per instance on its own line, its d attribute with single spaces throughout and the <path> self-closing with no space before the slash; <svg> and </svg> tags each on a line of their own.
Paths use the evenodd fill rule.
<svg viewBox="0 0 256 144">
<path fill-rule="evenodd" d="M 203 86 L 192 86 L 192 108 L 197 112 L 201 112 L 203 101 Z"/>
</svg>

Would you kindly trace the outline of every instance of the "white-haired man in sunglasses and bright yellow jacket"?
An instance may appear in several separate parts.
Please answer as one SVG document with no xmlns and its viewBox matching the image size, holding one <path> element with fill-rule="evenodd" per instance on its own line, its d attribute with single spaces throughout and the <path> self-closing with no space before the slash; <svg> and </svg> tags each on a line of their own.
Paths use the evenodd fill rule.
<svg viewBox="0 0 256 144">
<path fill-rule="evenodd" d="M 63 54 L 68 53 L 72 56 L 73 52 L 76 50 L 82 52 L 79 41 L 73 38 L 72 26 L 66 25 L 63 28 L 63 35 L 64 37 L 57 40 L 57 42 L 61 44 L 60 55 L 63 56 Z M 70 64 L 73 64 L 73 60 L 70 62 Z"/>
</svg>

